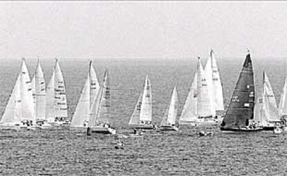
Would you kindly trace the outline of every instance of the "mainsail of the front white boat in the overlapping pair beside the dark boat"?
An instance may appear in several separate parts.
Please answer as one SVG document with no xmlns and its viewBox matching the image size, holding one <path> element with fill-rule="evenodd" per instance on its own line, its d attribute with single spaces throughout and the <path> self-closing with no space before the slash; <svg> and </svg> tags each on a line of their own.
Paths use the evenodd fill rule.
<svg viewBox="0 0 287 176">
<path fill-rule="evenodd" d="M 215 109 L 211 103 L 209 81 L 198 58 L 198 116 L 215 116 Z"/>
</svg>

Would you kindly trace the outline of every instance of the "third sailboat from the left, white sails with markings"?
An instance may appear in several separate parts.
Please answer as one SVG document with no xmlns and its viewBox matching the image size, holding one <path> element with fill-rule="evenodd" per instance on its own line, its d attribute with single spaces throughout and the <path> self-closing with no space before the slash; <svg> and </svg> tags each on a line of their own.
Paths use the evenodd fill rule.
<svg viewBox="0 0 287 176">
<path fill-rule="evenodd" d="M 53 126 L 69 125 L 66 88 L 58 60 L 46 87 L 46 121 Z"/>
</svg>

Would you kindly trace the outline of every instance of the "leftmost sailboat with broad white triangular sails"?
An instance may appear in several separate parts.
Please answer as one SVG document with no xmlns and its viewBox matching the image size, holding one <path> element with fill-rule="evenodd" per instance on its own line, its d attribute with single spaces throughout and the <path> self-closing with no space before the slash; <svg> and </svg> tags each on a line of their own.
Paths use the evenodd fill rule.
<svg viewBox="0 0 287 176">
<path fill-rule="evenodd" d="M 1 129 L 35 127 L 35 109 L 30 76 L 23 58 L 12 94 L 0 121 Z"/>
</svg>

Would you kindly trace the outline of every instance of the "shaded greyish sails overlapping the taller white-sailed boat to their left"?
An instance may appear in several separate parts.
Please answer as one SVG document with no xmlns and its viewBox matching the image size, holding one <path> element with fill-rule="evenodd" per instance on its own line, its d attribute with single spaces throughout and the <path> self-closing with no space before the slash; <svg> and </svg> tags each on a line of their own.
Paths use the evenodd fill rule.
<svg viewBox="0 0 287 176">
<path fill-rule="evenodd" d="M 110 118 L 110 78 L 107 69 L 105 70 L 103 81 L 93 100 L 89 113 L 89 127 L 99 123 L 109 123 Z"/>
</svg>

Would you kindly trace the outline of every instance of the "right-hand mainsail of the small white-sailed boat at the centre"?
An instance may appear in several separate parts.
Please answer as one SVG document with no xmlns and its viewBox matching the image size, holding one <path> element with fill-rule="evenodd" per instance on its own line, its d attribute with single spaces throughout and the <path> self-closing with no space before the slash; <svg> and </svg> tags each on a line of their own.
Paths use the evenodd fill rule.
<svg viewBox="0 0 287 176">
<path fill-rule="evenodd" d="M 152 121 L 152 94 L 151 85 L 148 76 L 143 85 L 143 97 L 141 100 L 141 112 L 139 113 L 140 121 Z"/>
</svg>

